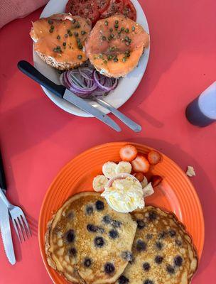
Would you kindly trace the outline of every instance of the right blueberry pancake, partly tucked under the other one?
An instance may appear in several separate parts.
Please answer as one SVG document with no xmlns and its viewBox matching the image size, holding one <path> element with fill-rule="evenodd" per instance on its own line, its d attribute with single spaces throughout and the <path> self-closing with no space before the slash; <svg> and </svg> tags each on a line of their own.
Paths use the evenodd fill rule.
<svg viewBox="0 0 216 284">
<path fill-rule="evenodd" d="M 198 256 L 183 224 L 151 206 L 132 215 L 138 225 L 133 260 L 116 284 L 189 284 Z"/>
</svg>

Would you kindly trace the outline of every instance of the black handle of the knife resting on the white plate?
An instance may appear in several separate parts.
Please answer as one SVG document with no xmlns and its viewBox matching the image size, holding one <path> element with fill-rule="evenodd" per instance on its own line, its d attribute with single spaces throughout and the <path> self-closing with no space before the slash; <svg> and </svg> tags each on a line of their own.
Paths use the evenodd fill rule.
<svg viewBox="0 0 216 284">
<path fill-rule="evenodd" d="M 21 60 L 17 63 L 17 67 L 21 72 L 23 72 L 25 75 L 36 81 L 38 84 L 41 84 L 43 87 L 50 90 L 50 92 L 53 92 L 58 97 L 63 98 L 63 95 L 65 93 L 65 87 L 61 84 L 55 84 L 51 80 L 49 80 L 47 77 L 41 74 L 38 70 L 36 70 L 33 65 L 31 65 L 26 60 Z"/>
</svg>

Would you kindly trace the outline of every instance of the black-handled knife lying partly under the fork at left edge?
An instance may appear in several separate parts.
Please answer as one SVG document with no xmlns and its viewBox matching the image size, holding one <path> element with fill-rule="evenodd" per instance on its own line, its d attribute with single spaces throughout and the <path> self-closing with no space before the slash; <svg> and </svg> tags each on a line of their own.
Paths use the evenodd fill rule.
<svg viewBox="0 0 216 284">
<path fill-rule="evenodd" d="M 6 189 L 6 180 L 4 176 L 4 168 L 0 153 L 0 188 L 4 191 Z M 13 250 L 13 241 L 11 236 L 11 226 L 10 226 L 10 219 L 9 219 L 9 210 L 6 207 L 6 204 L 0 198 L 0 230 L 1 230 L 1 237 L 4 244 L 4 250 L 6 253 L 7 258 L 9 259 L 9 263 L 12 265 L 16 263 L 16 258 L 14 255 Z"/>
</svg>

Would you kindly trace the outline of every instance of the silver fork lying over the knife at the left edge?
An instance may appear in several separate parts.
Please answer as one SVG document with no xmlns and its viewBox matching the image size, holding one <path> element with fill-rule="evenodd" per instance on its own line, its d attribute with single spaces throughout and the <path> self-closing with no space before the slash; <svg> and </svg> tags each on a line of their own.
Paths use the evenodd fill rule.
<svg viewBox="0 0 216 284">
<path fill-rule="evenodd" d="M 28 226 L 28 222 L 26 220 L 25 214 L 23 213 L 23 210 L 18 206 L 14 206 L 9 202 L 9 200 L 7 200 L 4 191 L 1 190 L 1 187 L 0 187 L 0 198 L 4 201 L 6 207 L 8 207 L 9 209 L 13 226 L 19 241 L 20 242 L 26 241 L 26 239 L 28 239 L 31 236 L 31 229 Z"/>
</svg>

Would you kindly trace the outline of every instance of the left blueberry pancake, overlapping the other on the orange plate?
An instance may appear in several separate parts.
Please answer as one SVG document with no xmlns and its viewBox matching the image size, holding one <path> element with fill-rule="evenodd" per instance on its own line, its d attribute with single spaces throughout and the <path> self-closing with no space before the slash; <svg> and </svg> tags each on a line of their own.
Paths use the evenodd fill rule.
<svg viewBox="0 0 216 284">
<path fill-rule="evenodd" d="M 82 192 L 48 224 L 48 263 L 72 283 L 114 283 L 131 261 L 136 226 L 130 214 L 114 211 L 98 193 Z"/>
</svg>

